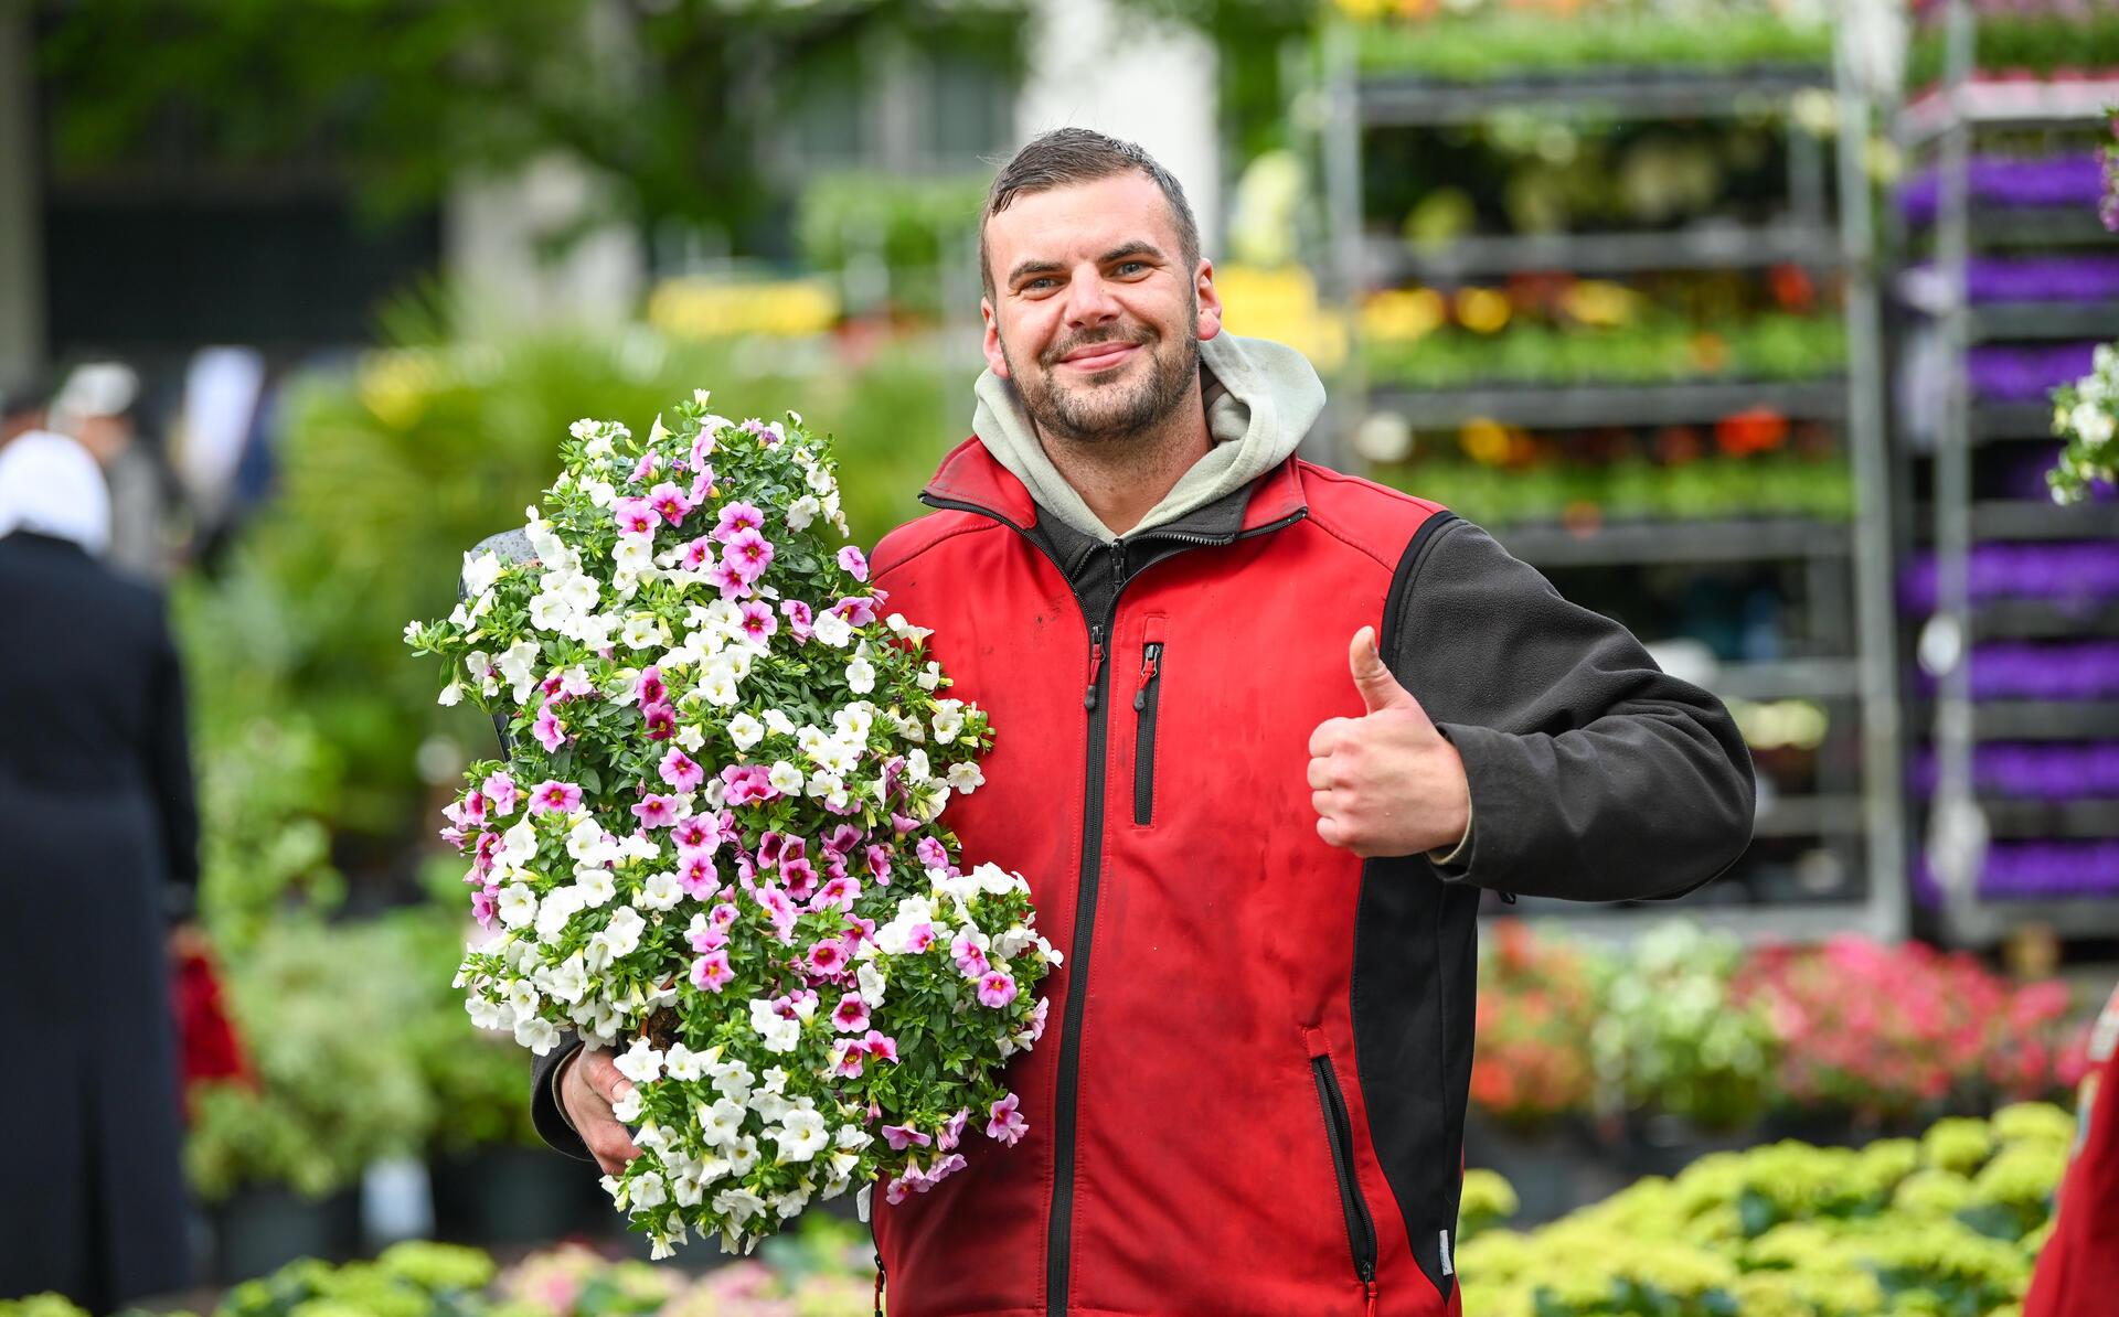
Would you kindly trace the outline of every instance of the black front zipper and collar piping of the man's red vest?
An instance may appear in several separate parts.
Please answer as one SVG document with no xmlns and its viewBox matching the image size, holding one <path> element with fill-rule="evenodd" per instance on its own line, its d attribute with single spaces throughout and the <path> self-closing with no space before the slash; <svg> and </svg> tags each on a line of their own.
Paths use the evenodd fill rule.
<svg viewBox="0 0 2119 1317">
<path fill-rule="evenodd" d="M 1009 521 L 992 508 L 981 508 L 979 504 L 966 504 L 958 500 L 934 498 L 928 491 L 920 491 L 920 502 L 930 508 L 949 508 L 956 512 L 975 512 L 998 521 L 1000 525 L 1013 529 L 1032 548 L 1045 555 L 1057 572 L 1060 580 L 1068 582 L 1068 593 L 1074 595 L 1074 608 L 1081 612 L 1083 623 L 1089 625 L 1089 690 L 1083 694 L 1083 705 L 1089 714 L 1089 764 L 1083 777 L 1083 819 L 1081 819 L 1081 881 L 1074 891 L 1074 944 L 1068 949 L 1068 989 L 1066 1008 L 1062 1014 L 1060 1033 L 1060 1076 L 1053 1088 L 1053 1194 L 1051 1209 L 1045 1226 L 1045 1311 L 1066 1313 L 1068 1304 L 1068 1253 L 1074 1241 L 1074 1129 L 1076 1109 L 1074 1101 L 1081 1093 L 1081 1016 L 1089 1002 L 1089 951 L 1096 934 L 1096 896 L 1098 883 L 1104 870 L 1104 756 L 1106 737 L 1110 733 L 1110 709 L 1104 694 L 1110 688 L 1110 669 L 1104 665 L 1104 633 L 1110 623 L 1119 616 L 1119 597 L 1129 584 L 1125 578 L 1125 540 L 1112 540 L 1112 591 L 1110 608 L 1102 623 L 1089 618 L 1089 610 L 1081 601 L 1081 591 L 1074 589 L 1068 576 L 1066 563 L 1055 559 L 1028 527 Z M 1310 508 L 1295 508 L 1295 512 L 1269 521 L 1257 529 L 1237 531 L 1235 536 L 1197 536 L 1189 531 L 1155 531 L 1155 538 L 1176 540 L 1180 544 L 1214 546 L 1229 544 L 1233 540 L 1250 540 L 1254 536 L 1265 536 L 1282 527 L 1295 525 L 1310 515 Z M 1373 1251 L 1373 1234 L 1371 1234 Z M 1375 1270 L 1371 1262 L 1371 1273 Z M 1371 1306 L 1373 1306 L 1373 1283 L 1371 1283 Z"/>
</svg>

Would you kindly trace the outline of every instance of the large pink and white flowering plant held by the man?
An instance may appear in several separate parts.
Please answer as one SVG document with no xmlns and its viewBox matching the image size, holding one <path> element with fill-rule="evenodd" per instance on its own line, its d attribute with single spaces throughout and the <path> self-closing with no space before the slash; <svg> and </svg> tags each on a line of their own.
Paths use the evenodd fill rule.
<svg viewBox="0 0 2119 1317">
<path fill-rule="evenodd" d="M 1060 963 L 1028 883 L 939 824 L 992 733 L 845 544 L 829 443 L 704 392 L 665 415 L 576 421 L 526 531 L 405 629 L 506 754 L 445 811 L 458 987 L 538 1054 L 619 1052 L 640 1156 L 604 1186 L 657 1256 L 1015 1143 L 1002 1065 Z"/>
</svg>

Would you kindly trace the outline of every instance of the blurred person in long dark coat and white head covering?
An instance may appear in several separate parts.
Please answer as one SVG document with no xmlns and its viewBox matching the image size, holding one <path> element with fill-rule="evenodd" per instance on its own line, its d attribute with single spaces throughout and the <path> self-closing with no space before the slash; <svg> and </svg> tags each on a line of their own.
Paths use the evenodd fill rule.
<svg viewBox="0 0 2119 1317">
<path fill-rule="evenodd" d="M 97 557 L 110 493 L 59 434 L 0 447 L 0 1300 L 104 1313 L 189 1283 L 163 949 L 197 885 L 161 597 Z M 189 902 L 186 902 L 189 904 Z"/>
</svg>

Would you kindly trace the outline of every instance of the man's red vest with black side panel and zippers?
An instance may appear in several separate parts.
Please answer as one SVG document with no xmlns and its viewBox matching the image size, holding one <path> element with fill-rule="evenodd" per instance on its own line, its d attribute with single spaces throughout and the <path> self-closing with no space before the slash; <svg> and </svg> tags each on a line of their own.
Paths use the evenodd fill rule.
<svg viewBox="0 0 2119 1317">
<path fill-rule="evenodd" d="M 877 1196 L 892 1317 L 1458 1313 L 1477 889 L 1324 845 L 1305 781 L 1447 515 L 1290 459 L 1089 618 L 979 440 L 926 502 L 877 584 L 996 735 L 941 822 L 1030 879 L 1066 966 L 1009 1071 L 1030 1135 Z"/>
</svg>

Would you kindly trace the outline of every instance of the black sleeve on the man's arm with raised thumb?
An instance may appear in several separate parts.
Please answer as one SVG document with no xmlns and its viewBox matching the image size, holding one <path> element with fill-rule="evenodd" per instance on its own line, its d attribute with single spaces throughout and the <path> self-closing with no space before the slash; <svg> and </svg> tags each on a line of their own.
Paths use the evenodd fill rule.
<svg viewBox="0 0 2119 1317">
<path fill-rule="evenodd" d="M 1723 703 L 1477 525 L 1439 515 L 1413 536 L 1384 633 L 1471 779 L 1471 845 L 1445 881 L 1668 898 L 1750 845 L 1750 750 Z"/>
</svg>

